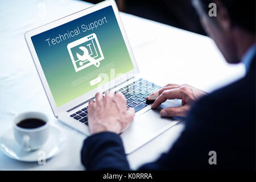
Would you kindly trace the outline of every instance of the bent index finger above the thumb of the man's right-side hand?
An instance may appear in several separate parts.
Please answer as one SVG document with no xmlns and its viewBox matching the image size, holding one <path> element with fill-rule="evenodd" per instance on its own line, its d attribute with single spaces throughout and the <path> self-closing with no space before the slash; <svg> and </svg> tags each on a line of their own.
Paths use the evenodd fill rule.
<svg viewBox="0 0 256 182">
<path fill-rule="evenodd" d="M 164 101 L 167 99 L 182 99 L 182 93 L 179 89 L 171 89 L 171 90 L 164 90 L 162 94 L 158 98 L 156 98 L 155 102 L 152 104 L 152 108 L 156 108 L 160 106 Z"/>
</svg>

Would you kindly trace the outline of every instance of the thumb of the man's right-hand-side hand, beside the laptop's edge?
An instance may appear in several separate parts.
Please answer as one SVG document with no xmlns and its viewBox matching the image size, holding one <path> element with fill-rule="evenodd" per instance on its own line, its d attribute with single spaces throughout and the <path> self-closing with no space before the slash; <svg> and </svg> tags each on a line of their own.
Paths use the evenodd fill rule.
<svg viewBox="0 0 256 182">
<path fill-rule="evenodd" d="M 180 107 L 167 107 L 160 111 L 160 115 L 162 117 L 174 117 L 174 116 L 185 117 L 188 111 L 189 111 L 188 105 L 180 106 Z"/>
</svg>

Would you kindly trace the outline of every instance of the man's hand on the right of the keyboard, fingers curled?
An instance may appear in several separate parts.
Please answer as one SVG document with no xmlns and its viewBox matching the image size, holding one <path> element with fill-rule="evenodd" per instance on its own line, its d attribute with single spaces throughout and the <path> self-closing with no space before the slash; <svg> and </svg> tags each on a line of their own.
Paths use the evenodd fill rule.
<svg viewBox="0 0 256 182">
<path fill-rule="evenodd" d="M 146 100 L 155 100 L 151 107 L 156 108 L 167 99 L 181 99 L 182 104 L 180 107 L 167 107 L 160 111 L 160 115 L 163 117 L 185 117 L 190 110 L 192 103 L 205 94 L 207 94 L 207 92 L 193 88 L 190 85 L 168 84 L 146 97 Z"/>
</svg>

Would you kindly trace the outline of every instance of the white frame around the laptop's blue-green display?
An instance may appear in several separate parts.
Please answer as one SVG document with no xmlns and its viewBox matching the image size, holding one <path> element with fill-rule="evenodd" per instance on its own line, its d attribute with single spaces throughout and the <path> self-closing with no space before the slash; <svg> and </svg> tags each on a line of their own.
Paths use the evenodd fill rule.
<svg viewBox="0 0 256 182">
<path fill-rule="evenodd" d="M 57 107 L 56 104 L 55 104 L 55 100 L 53 99 L 51 90 L 49 89 L 49 85 L 48 85 L 48 82 L 46 80 L 46 76 L 44 75 L 43 69 L 40 65 L 40 61 L 38 59 L 38 55 L 36 54 L 36 51 L 35 51 L 34 45 L 32 43 L 31 37 L 34 36 L 34 35 L 38 35 L 38 34 L 44 32 L 44 31 L 50 30 L 52 28 L 58 27 L 61 24 L 71 22 L 72 20 L 75 20 L 75 19 L 80 18 L 82 16 L 88 15 L 90 13 L 93 13 L 94 11 L 98 11 L 98 10 L 103 9 L 104 7 L 108 7 L 108 6 L 112 6 L 112 8 L 113 8 L 115 18 L 117 19 L 117 23 L 118 23 L 119 28 L 121 30 L 121 34 L 123 36 L 123 40 L 125 41 L 125 44 L 126 44 L 128 52 L 129 52 L 131 61 L 133 63 L 134 69 L 125 73 L 123 76 L 119 76 L 119 77 L 115 78 L 114 80 L 109 81 L 108 83 L 102 85 L 101 86 L 102 88 L 93 89 L 90 92 L 84 93 L 84 94 L 82 94 L 82 96 L 79 96 L 79 97 L 73 99 L 72 101 L 67 102 L 64 105 L 61 105 L 61 106 Z M 64 18 L 55 20 L 54 22 L 51 22 L 51 23 L 45 24 L 43 26 L 40 26 L 38 28 L 35 28 L 33 30 L 30 30 L 30 31 L 25 33 L 25 39 L 26 39 L 28 48 L 30 49 L 32 59 L 34 60 L 35 67 L 38 71 L 40 80 L 43 84 L 44 90 L 47 94 L 49 104 L 52 107 L 52 111 L 53 111 L 53 114 L 55 115 L 55 117 L 57 117 L 58 115 L 60 115 L 64 111 L 68 111 L 68 110 L 72 109 L 73 107 L 76 107 L 77 105 L 81 104 L 82 102 L 90 100 L 91 98 L 94 97 L 94 95 L 98 92 L 98 90 L 102 90 L 103 88 L 110 89 L 112 86 L 109 86 L 109 85 L 118 85 L 118 84 L 126 81 L 127 79 L 132 78 L 135 74 L 139 73 L 137 63 L 134 59 L 133 52 L 131 50 L 129 41 L 127 39 L 125 30 L 123 28 L 121 18 L 119 16 L 119 11 L 118 11 L 117 5 L 116 5 L 114 0 L 108 0 L 108 1 L 98 3 L 97 5 L 94 5 L 92 7 L 88 7 L 87 9 L 81 10 L 77 13 L 65 16 Z"/>
</svg>

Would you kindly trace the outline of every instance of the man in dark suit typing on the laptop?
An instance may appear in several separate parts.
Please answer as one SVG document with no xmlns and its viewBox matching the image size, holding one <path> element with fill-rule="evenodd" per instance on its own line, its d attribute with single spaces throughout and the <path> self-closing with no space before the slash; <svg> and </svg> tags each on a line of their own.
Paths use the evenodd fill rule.
<svg viewBox="0 0 256 182">
<path fill-rule="evenodd" d="M 175 84 L 152 94 L 159 95 L 152 108 L 167 99 L 182 100 L 181 107 L 161 110 L 163 117 L 187 118 L 185 129 L 171 150 L 139 169 L 255 170 L 255 1 L 213 2 L 217 5 L 216 17 L 208 15 L 210 1 L 195 0 L 193 4 L 226 61 L 242 61 L 246 76 L 207 96 L 192 86 Z M 125 105 L 122 94 L 112 92 L 105 97 L 97 93 L 96 101 L 90 101 L 92 136 L 85 139 L 81 151 L 86 169 L 130 169 L 118 135 L 134 117 L 134 110 L 126 110 Z M 216 155 L 216 160 L 209 160 L 209 154 Z"/>
</svg>

